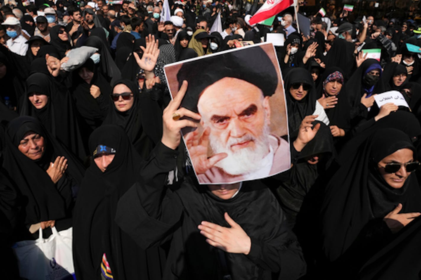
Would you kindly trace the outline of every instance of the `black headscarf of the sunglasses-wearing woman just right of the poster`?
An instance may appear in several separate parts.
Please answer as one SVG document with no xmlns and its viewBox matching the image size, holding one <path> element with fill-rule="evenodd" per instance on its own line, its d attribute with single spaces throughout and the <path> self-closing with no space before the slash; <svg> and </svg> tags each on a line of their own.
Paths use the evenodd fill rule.
<svg viewBox="0 0 421 280">
<path fill-rule="evenodd" d="M 310 85 L 307 95 L 301 100 L 295 100 L 289 90 L 294 83 L 305 83 Z M 288 72 L 285 77 L 285 96 L 288 108 L 288 127 L 290 137 L 298 135 L 298 127 L 305 116 L 313 114 L 316 108 L 317 93 L 314 88 L 314 82 L 309 71 L 303 68 L 294 68 Z"/>
</svg>

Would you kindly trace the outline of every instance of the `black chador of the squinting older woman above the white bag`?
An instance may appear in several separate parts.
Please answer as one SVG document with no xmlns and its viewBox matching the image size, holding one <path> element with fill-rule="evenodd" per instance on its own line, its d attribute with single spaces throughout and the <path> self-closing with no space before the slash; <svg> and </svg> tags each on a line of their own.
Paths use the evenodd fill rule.
<svg viewBox="0 0 421 280">
<path fill-rule="evenodd" d="M 25 133 L 32 131 L 44 137 L 45 151 L 33 161 L 18 150 Z M 67 170 L 56 185 L 46 170 L 57 156 L 67 158 Z M 79 160 L 30 116 L 13 119 L 6 130 L 3 168 L 17 187 L 24 210 L 24 223 L 29 225 L 51 219 L 71 217 L 71 208 L 85 172 Z"/>
</svg>

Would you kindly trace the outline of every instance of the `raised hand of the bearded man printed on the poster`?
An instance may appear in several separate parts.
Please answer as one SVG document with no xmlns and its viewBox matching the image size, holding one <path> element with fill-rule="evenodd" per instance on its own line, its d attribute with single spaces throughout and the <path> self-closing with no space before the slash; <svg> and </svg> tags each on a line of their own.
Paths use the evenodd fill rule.
<svg viewBox="0 0 421 280">
<path fill-rule="evenodd" d="M 205 173 L 218 161 L 228 156 L 226 153 L 217 153 L 208 158 L 209 134 L 210 128 L 207 127 L 202 135 L 199 135 L 196 129 L 188 133 L 185 137 L 187 149 L 189 150 L 190 158 L 197 174 Z"/>
</svg>

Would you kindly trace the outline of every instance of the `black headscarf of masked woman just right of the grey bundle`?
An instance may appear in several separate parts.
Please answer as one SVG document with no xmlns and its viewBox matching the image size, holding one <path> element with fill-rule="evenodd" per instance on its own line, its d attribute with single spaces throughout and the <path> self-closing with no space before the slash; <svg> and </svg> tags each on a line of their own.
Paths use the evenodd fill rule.
<svg viewBox="0 0 421 280">
<path fill-rule="evenodd" d="M 112 59 L 111 54 L 109 53 L 109 48 L 105 43 L 96 36 L 91 36 L 85 41 L 86 46 L 91 46 L 99 49 L 99 54 L 101 55 L 99 62 L 99 71 L 111 84 L 115 83 L 121 77 L 120 70 Z"/>
</svg>

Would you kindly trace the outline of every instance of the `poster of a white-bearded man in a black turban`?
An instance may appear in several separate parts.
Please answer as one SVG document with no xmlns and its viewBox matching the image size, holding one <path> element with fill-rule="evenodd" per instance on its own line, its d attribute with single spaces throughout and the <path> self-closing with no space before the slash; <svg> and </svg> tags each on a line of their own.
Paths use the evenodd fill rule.
<svg viewBox="0 0 421 280">
<path fill-rule="evenodd" d="M 238 69 L 250 55 L 261 63 L 258 69 Z M 165 66 L 171 92 L 183 80 L 189 82 L 181 107 L 201 116 L 197 129 L 183 131 L 200 183 L 255 180 L 289 168 L 285 98 L 276 59 L 272 44 L 263 44 Z M 224 66 L 231 62 L 237 73 Z M 199 63 L 208 66 L 202 67 L 202 80 L 192 75 Z"/>
</svg>

